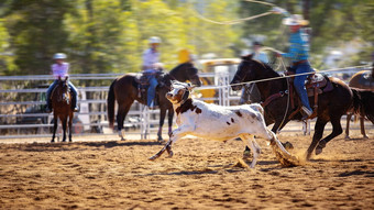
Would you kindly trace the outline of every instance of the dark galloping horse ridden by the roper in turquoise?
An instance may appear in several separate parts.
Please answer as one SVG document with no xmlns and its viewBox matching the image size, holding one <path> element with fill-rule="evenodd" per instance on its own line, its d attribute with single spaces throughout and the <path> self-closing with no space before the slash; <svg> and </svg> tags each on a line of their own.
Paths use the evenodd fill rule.
<svg viewBox="0 0 374 210">
<path fill-rule="evenodd" d="M 258 60 L 252 59 L 252 55 L 249 55 L 242 57 L 242 62 L 238 67 L 238 71 L 231 81 L 231 85 L 233 85 L 244 81 L 278 78 L 256 82 L 261 92 L 262 101 L 265 101 L 270 96 L 275 93 L 286 92 L 282 95 L 283 97 L 272 100 L 272 102 L 264 107 L 266 125 L 274 123 L 272 129 L 273 132 L 284 128 L 285 124 L 290 120 L 301 120 L 302 118 L 300 113 L 293 114 L 292 119 L 288 118 L 297 109 L 297 106 L 294 108 L 295 110 L 292 109 L 292 106 L 287 106 L 287 102 L 289 102 L 288 93 L 286 91 L 288 89 L 288 82 L 286 78 L 279 79 L 279 77 L 280 75 L 273 70 L 270 66 Z M 307 151 L 307 159 L 310 158 L 315 148 L 316 154 L 320 154 L 322 148 L 330 140 L 342 133 L 343 130 L 340 120 L 350 108 L 358 110 L 360 104 L 362 106 L 362 103 L 366 103 L 360 99 L 361 91 L 352 91 L 348 85 L 338 78 L 329 77 L 329 80 L 332 82 L 333 89 L 331 91 L 318 95 L 317 122 L 312 142 Z M 234 90 L 239 90 L 241 86 L 232 87 Z M 369 93 L 365 96 L 365 98 L 369 97 L 374 99 L 373 96 L 374 93 Z M 294 97 L 297 96 L 294 95 Z M 295 101 L 297 103 L 298 100 Z M 314 107 L 312 97 L 309 98 L 309 102 L 311 107 Z M 323 130 L 328 122 L 331 122 L 332 124 L 332 133 L 322 139 Z"/>
</svg>

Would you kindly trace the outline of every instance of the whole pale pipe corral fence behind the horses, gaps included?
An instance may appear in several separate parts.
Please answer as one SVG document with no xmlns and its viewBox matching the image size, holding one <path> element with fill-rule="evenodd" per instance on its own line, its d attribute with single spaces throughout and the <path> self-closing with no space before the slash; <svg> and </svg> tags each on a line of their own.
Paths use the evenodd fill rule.
<svg viewBox="0 0 374 210">
<path fill-rule="evenodd" d="M 342 78 L 342 75 L 365 70 L 349 69 L 334 71 L 333 76 Z M 241 91 L 232 91 L 228 86 L 234 71 L 200 73 L 200 78 L 207 78 L 213 85 L 205 85 L 195 89 L 193 97 L 199 100 L 213 101 L 221 106 L 238 104 Z M 107 97 L 109 85 L 123 74 L 77 74 L 70 75 L 69 79 L 77 87 L 80 112 L 75 113 L 73 123 L 74 135 L 90 134 L 116 134 L 117 131 L 108 128 Z M 344 78 L 343 78 L 344 79 Z M 53 113 L 45 113 L 45 92 L 48 85 L 54 80 L 51 75 L 30 76 L 1 76 L 0 77 L 0 140 L 23 137 L 52 136 Z M 204 98 L 200 90 L 215 90 L 215 97 Z M 116 112 L 117 113 L 117 106 Z M 145 106 L 135 101 L 125 119 L 127 134 L 140 134 L 141 139 L 147 139 L 151 133 L 158 129 L 158 110 L 148 110 Z M 166 121 L 166 120 L 165 120 Z M 167 123 L 164 132 L 167 133 Z M 114 125 L 116 126 L 116 125 Z M 300 128 L 301 128 L 300 123 Z M 310 123 L 308 125 L 310 132 Z M 61 135 L 58 123 L 57 136 Z M 300 129 L 286 128 L 283 132 L 295 132 Z"/>
</svg>

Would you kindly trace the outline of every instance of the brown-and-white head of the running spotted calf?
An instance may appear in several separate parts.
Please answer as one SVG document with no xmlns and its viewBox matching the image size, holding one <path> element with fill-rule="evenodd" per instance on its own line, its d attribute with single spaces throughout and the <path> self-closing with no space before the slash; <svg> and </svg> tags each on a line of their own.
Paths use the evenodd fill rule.
<svg viewBox="0 0 374 210">
<path fill-rule="evenodd" d="M 188 99 L 189 92 L 194 87 L 190 84 L 172 81 L 172 89 L 166 93 L 166 98 L 172 103 L 183 103 Z"/>
</svg>

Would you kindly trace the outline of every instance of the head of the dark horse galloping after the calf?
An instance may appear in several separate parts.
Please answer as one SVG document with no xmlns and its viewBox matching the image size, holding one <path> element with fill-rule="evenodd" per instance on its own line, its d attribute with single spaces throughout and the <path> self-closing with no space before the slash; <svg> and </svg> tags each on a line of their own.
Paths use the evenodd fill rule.
<svg viewBox="0 0 374 210">
<path fill-rule="evenodd" d="M 252 59 L 253 54 L 242 56 L 242 62 L 238 66 L 235 76 L 230 85 L 252 81 L 256 79 L 256 70 L 264 69 L 265 66 L 256 59 Z M 240 90 L 242 85 L 231 86 L 233 90 Z"/>
</svg>

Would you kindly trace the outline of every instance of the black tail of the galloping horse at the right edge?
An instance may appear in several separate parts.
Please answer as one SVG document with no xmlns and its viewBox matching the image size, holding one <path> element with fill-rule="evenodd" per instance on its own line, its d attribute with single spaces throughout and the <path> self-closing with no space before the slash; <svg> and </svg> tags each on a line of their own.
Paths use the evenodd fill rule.
<svg viewBox="0 0 374 210">
<path fill-rule="evenodd" d="M 351 88 L 353 92 L 353 111 L 356 114 L 366 117 L 374 124 L 374 92 Z"/>
</svg>

